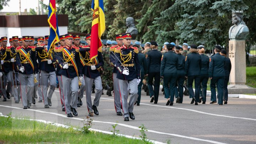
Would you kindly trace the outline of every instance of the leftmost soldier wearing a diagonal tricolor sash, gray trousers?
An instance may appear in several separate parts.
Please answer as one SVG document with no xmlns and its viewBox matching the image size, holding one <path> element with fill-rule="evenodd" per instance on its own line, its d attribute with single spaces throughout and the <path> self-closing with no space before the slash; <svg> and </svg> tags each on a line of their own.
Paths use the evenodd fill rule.
<svg viewBox="0 0 256 144">
<path fill-rule="evenodd" d="M 34 79 L 38 73 L 36 49 L 28 46 L 28 36 L 23 36 L 23 46 L 16 48 L 16 63 L 20 71 L 21 100 L 23 109 L 30 108 L 34 94 Z"/>
</svg>

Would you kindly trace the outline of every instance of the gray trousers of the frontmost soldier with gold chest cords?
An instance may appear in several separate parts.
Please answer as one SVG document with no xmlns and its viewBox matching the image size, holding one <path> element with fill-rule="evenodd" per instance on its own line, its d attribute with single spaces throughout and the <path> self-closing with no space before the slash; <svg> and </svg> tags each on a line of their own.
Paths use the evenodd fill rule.
<svg viewBox="0 0 256 144">
<path fill-rule="evenodd" d="M 119 89 L 121 94 L 121 101 L 123 106 L 123 117 L 129 117 L 129 112 L 133 112 L 133 106 L 134 103 L 137 101 L 138 98 L 138 85 L 137 85 L 137 79 L 133 80 L 120 80 L 119 81 Z M 129 91 L 127 90 L 127 87 L 130 87 L 130 100 L 129 104 L 127 103 L 128 97 L 129 97 Z"/>
</svg>

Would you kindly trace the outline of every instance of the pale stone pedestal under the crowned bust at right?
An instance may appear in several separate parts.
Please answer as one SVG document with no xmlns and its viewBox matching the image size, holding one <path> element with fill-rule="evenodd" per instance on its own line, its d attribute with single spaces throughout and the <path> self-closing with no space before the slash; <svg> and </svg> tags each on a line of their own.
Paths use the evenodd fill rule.
<svg viewBox="0 0 256 144">
<path fill-rule="evenodd" d="M 254 94 L 256 89 L 245 85 L 246 83 L 246 55 L 245 41 L 229 41 L 229 58 L 231 72 L 228 85 L 229 94 Z"/>
</svg>

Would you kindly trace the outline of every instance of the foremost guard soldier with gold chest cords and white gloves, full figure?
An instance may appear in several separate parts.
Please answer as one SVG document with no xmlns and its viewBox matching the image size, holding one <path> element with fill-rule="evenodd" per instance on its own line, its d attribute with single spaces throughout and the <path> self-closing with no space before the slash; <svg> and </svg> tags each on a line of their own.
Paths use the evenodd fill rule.
<svg viewBox="0 0 256 144">
<path fill-rule="evenodd" d="M 123 33 L 123 46 L 117 47 L 116 52 L 116 68 L 118 70 L 117 79 L 119 82 L 119 90 L 121 94 L 121 102 L 123 107 L 124 121 L 135 119 L 133 114 L 133 106 L 138 98 L 138 84 L 140 83 L 140 64 L 137 47 L 130 46 L 131 34 Z M 127 99 L 129 97 L 128 85 L 130 87 L 129 104 Z"/>
</svg>

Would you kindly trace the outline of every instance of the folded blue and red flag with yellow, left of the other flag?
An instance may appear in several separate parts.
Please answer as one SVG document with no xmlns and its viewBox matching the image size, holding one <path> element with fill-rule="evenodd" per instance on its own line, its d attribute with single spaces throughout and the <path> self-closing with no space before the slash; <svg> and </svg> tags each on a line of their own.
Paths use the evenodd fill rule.
<svg viewBox="0 0 256 144">
<path fill-rule="evenodd" d="M 48 39 L 48 53 L 49 49 L 54 47 L 55 43 L 59 42 L 59 28 L 58 28 L 58 17 L 55 5 L 55 0 L 49 0 L 48 6 L 48 23 L 50 25 L 50 34 Z"/>
</svg>

